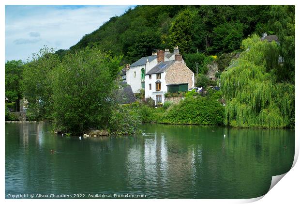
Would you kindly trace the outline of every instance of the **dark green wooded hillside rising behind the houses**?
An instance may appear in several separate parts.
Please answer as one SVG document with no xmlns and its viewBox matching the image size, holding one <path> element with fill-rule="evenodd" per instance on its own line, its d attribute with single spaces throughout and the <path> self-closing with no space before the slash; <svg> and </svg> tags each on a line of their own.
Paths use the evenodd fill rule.
<svg viewBox="0 0 300 204">
<path fill-rule="evenodd" d="M 86 34 L 62 56 L 86 46 L 98 45 L 124 63 L 133 63 L 153 49 L 179 46 L 182 54 L 220 54 L 239 49 L 242 39 L 263 32 L 273 34 L 268 25 L 271 6 L 265 5 L 142 5 L 111 17 L 99 29 Z M 171 51 L 171 50 L 170 50 Z"/>
</svg>

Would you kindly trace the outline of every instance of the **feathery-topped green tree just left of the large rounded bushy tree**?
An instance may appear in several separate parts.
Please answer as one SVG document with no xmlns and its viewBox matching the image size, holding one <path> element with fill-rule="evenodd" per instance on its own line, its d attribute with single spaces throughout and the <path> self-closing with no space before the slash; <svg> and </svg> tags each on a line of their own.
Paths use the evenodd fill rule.
<svg viewBox="0 0 300 204">
<path fill-rule="evenodd" d="M 29 102 L 28 111 L 38 120 L 53 119 L 52 75 L 60 64 L 53 48 L 44 47 L 32 55 L 32 60 L 24 65 L 22 90 Z"/>
</svg>

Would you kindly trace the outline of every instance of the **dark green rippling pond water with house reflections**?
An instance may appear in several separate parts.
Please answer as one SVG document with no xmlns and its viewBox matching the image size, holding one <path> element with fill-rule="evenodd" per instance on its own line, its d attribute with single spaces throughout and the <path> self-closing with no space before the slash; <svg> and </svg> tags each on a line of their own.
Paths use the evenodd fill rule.
<svg viewBox="0 0 300 204">
<path fill-rule="evenodd" d="M 5 124 L 5 198 L 254 198 L 268 191 L 272 175 L 289 171 L 295 150 L 292 129 L 146 124 L 144 135 L 79 140 L 52 128 Z"/>
</svg>

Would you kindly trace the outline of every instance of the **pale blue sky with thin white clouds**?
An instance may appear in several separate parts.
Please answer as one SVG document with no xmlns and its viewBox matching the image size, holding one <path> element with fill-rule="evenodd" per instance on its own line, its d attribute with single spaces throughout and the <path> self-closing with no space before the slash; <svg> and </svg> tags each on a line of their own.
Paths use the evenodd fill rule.
<svg viewBox="0 0 300 204">
<path fill-rule="evenodd" d="M 130 5 L 5 5 L 5 62 L 27 61 L 46 45 L 68 49 Z"/>
</svg>

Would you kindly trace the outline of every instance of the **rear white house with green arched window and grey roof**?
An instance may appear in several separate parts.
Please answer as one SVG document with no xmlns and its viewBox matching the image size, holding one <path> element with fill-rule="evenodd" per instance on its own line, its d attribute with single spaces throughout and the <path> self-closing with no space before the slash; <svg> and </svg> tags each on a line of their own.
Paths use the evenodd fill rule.
<svg viewBox="0 0 300 204">
<path fill-rule="evenodd" d="M 155 65 L 160 62 L 175 60 L 175 55 L 179 54 L 179 48 L 174 47 L 173 53 L 170 53 L 169 49 L 165 49 L 161 53 L 163 55 L 160 59 L 158 59 L 157 53 L 153 52 L 151 56 L 142 57 L 135 63 L 126 65 L 126 76 L 123 74 L 122 79 L 131 86 L 133 93 L 139 93 L 140 89 L 145 89 L 145 74 Z"/>
</svg>

